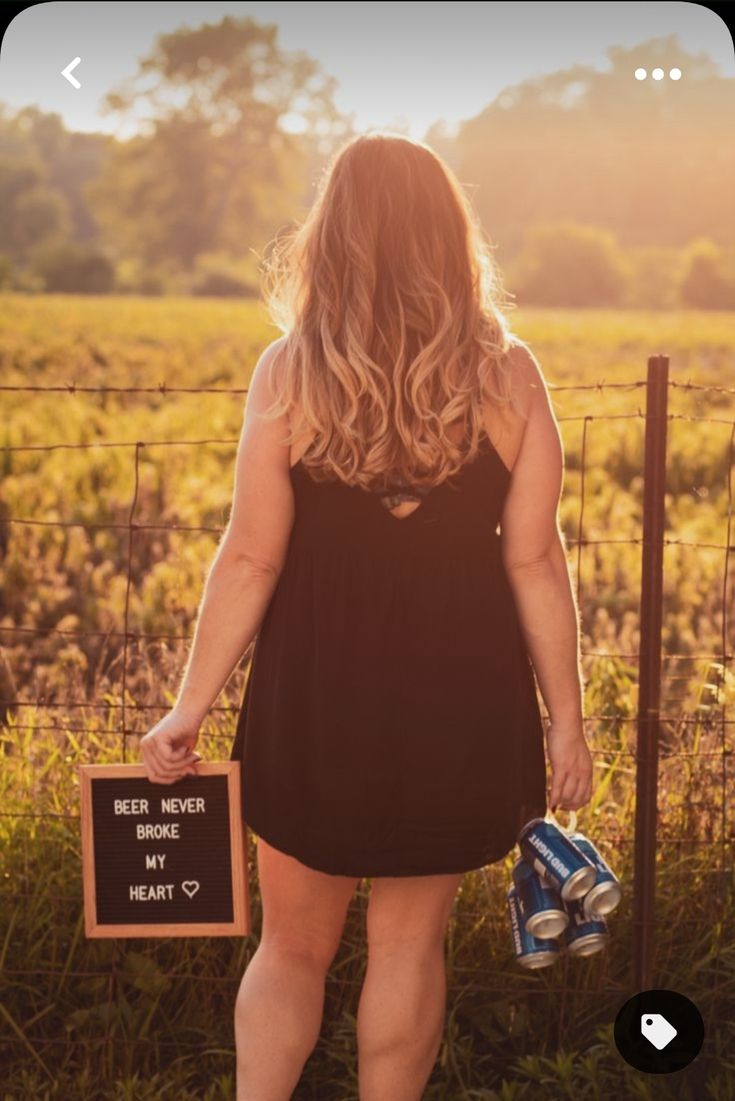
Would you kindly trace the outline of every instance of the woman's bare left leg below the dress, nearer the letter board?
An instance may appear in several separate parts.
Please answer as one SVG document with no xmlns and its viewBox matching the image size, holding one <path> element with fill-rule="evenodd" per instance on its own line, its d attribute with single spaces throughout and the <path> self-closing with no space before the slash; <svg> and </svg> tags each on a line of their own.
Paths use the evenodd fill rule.
<svg viewBox="0 0 735 1101">
<path fill-rule="evenodd" d="M 263 929 L 234 1013 L 237 1101 L 288 1101 L 319 1038 L 325 980 L 360 882 L 257 839 Z"/>
</svg>

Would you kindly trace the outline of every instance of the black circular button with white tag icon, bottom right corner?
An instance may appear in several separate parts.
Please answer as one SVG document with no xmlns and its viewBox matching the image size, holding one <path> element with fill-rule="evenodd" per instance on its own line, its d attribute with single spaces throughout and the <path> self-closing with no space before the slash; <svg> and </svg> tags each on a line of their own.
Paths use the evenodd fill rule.
<svg viewBox="0 0 735 1101">
<path fill-rule="evenodd" d="M 615 1046 L 626 1062 L 649 1075 L 683 1070 L 700 1054 L 704 1022 L 676 990 L 644 990 L 615 1017 Z"/>
</svg>

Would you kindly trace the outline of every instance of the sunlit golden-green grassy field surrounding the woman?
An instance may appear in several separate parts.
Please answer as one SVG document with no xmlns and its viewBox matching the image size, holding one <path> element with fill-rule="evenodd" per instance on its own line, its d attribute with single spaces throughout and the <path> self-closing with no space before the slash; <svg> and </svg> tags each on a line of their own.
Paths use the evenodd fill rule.
<svg viewBox="0 0 735 1101">
<path fill-rule="evenodd" d="M 465 877 L 426 1099 L 724 1101 L 735 1097 L 735 680 L 718 655 L 723 643 L 733 648 L 732 584 L 723 625 L 733 394 L 717 388 L 733 379 L 733 315 L 518 310 L 514 326 L 539 358 L 564 439 L 561 517 L 596 766 L 580 825 L 626 894 L 608 951 L 528 974 L 512 958 L 505 917 L 512 861 Z M 138 738 L 174 698 L 227 521 L 244 390 L 276 335 L 254 304 L 0 297 L 2 385 L 40 388 L 1 394 L 0 696 L 24 701 L 3 707 L 1 728 L 2 1101 L 234 1098 L 232 1010 L 260 928 L 256 839 L 253 937 L 87 940 L 76 770 L 138 761 Z M 633 993 L 643 412 L 647 357 L 658 352 L 671 358 L 673 384 L 655 980 L 692 998 L 707 1028 L 700 1058 L 661 1080 L 628 1068 L 612 1043 L 615 1012 Z M 99 386 L 146 392 L 81 389 Z M 574 386 L 591 389 L 566 389 Z M 229 755 L 245 675 L 243 661 L 205 722 L 205 759 Z M 297 1101 L 358 1097 L 368 890 L 363 881 L 354 896 Z"/>
</svg>

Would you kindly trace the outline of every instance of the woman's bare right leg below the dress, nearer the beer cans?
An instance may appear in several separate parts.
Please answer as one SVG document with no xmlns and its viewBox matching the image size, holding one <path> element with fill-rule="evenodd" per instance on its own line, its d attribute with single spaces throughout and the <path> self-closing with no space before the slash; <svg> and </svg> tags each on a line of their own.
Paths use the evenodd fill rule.
<svg viewBox="0 0 735 1101">
<path fill-rule="evenodd" d="M 360 1101 L 420 1101 L 443 1034 L 445 937 L 461 881 L 431 875 L 373 883 L 358 1006 Z"/>
</svg>

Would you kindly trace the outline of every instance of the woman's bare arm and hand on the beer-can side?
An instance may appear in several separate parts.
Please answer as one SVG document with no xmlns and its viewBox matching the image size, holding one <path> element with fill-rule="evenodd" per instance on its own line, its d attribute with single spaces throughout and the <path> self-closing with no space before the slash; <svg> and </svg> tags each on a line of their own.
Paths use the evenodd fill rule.
<svg viewBox="0 0 735 1101">
<path fill-rule="evenodd" d="M 514 355 L 528 421 L 501 517 L 501 554 L 551 719 L 549 803 L 571 809 L 590 797 L 591 760 L 583 730 L 579 614 L 558 517 L 563 451 L 538 362 L 523 346 Z"/>
</svg>

